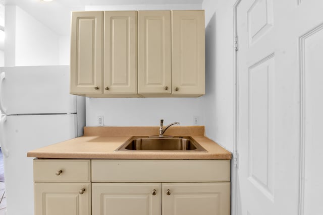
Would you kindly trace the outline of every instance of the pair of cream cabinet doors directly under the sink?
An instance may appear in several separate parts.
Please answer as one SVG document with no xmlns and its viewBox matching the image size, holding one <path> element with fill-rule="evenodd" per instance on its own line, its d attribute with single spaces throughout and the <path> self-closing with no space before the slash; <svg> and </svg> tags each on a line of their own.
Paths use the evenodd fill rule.
<svg viewBox="0 0 323 215">
<path fill-rule="evenodd" d="M 92 183 L 93 215 L 229 215 L 230 183 Z"/>
</svg>

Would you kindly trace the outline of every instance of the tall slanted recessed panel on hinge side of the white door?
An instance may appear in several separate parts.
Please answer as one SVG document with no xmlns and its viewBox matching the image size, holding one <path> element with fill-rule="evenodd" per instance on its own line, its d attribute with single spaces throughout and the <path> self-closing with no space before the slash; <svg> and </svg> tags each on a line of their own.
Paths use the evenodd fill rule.
<svg viewBox="0 0 323 215">
<path fill-rule="evenodd" d="M 249 67 L 248 177 L 274 202 L 275 54 Z M 265 123 L 263 123 L 265 122 Z"/>
</svg>

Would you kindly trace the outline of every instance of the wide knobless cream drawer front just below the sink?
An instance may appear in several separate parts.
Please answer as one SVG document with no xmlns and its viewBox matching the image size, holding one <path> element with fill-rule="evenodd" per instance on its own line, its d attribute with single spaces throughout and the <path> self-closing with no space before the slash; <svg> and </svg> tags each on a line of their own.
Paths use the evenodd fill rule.
<svg viewBox="0 0 323 215">
<path fill-rule="evenodd" d="M 230 182 L 230 160 L 92 160 L 92 182 Z"/>
</svg>

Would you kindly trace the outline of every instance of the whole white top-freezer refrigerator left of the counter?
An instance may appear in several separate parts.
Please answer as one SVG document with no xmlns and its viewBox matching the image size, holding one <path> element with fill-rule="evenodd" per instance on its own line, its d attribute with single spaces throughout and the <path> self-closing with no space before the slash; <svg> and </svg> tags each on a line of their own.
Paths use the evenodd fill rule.
<svg viewBox="0 0 323 215">
<path fill-rule="evenodd" d="M 83 135 L 85 98 L 69 94 L 69 66 L 0 68 L 0 146 L 7 215 L 33 215 L 27 152 Z"/>
</svg>

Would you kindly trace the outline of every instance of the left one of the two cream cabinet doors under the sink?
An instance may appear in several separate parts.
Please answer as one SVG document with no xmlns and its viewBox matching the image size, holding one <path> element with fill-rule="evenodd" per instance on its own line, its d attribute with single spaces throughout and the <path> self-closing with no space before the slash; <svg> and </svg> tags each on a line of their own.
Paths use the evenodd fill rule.
<svg viewBox="0 0 323 215">
<path fill-rule="evenodd" d="M 160 215 L 160 183 L 92 183 L 92 215 Z"/>
</svg>

